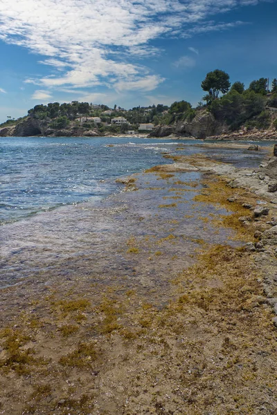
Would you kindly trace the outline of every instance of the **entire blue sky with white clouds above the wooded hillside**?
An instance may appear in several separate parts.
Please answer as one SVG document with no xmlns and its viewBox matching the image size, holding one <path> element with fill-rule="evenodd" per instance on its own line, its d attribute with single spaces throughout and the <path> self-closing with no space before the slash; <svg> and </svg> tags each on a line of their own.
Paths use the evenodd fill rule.
<svg viewBox="0 0 277 415">
<path fill-rule="evenodd" d="M 215 68 L 277 78 L 277 0 L 1 0 L 0 122 L 36 104 L 197 104 Z"/>
</svg>

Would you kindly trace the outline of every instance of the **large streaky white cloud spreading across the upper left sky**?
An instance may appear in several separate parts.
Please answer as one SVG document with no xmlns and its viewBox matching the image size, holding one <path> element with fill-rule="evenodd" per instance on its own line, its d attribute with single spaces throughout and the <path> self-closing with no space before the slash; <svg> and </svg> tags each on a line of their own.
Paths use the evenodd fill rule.
<svg viewBox="0 0 277 415">
<path fill-rule="evenodd" d="M 137 60 L 159 53 L 152 40 L 234 27 L 242 22 L 208 19 L 258 1 L 263 0 L 1 0 L 0 39 L 46 57 L 39 62 L 52 68 L 51 75 L 28 83 L 150 91 L 163 78 Z"/>
</svg>

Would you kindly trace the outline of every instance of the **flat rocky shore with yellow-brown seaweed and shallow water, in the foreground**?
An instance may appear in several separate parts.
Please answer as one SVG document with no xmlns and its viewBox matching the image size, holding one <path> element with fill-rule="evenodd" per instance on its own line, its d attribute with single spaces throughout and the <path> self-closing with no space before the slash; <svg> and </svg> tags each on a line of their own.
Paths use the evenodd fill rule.
<svg viewBox="0 0 277 415">
<path fill-rule="evenodd" d="M 7 414 L 81 408 L 84 414 L 196 415 L 228 408 L 248 415 L 264 414 L 262 405 L 268 413 L 277 408 L 276 245 L 267 233 L 276 198 L 259 178 L 266 165 L 253 172 L 204 156 L 174 161 L 126 178 L 125 192 L 91 210 L 88 226 L 97 217 L 92 223 L 109 234 L 85 266 L 61 261 L 61 269 L 74 262 L 71 274 L 57 279 L 51 266 L 3 290 Z M 269 215 L 255 219 L 242 207 L 257 200 Z M 187 216 L 195 211 L 203 230 L 211 222 L 204 238 L 202 228 L 190 231 L 194 219 L 184 218 L 184 203 L 192 203 Z M 209 210 L 199 220 L 203 203 Z M 240 220 L 241 212 L 248 219 Z M 89 238 L 97 246 L 96 236 Z M 15 338 L 19 347 L 9 355 Z"/>
</svg>

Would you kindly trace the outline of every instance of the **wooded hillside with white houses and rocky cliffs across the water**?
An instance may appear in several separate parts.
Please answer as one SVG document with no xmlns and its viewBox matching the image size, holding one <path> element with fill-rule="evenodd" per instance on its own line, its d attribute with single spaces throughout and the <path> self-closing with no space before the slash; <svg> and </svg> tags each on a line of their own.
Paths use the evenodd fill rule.
<svg viewBox="0 0 277 415">
<path fill-rule="evenodd" d="M 152 137 L 172 133 L 195 138 L 231 133 L 230 137 L 235 137 L 234 131 L 245 136 L 256 131 L 276 131 L 276 79 L 271 92 L 267 78 L 254 80 L 249 89 L 244 89 L 242 82 L 231 85 L 229 75 L 216 69 L 206 75 L 202 89 L 208 93 L 195 108 L 185 100 L 173 102 L 170 107 L 158 104 L 129 110 L 78 101 L 39 104 L 28 111 L 28 116 L 18 120 L 9 117 L 0 124 L 0 136 L 122 135 L 129 130 L 138 133 L 140 124 L 145 124 Z"/>
</svg>

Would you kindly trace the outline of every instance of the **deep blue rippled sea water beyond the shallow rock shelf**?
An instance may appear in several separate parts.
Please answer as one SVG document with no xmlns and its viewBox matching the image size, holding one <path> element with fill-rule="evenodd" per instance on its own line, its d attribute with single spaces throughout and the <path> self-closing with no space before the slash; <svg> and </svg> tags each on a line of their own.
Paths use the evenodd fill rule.
<svg viewBox="0 0 277 415">
<path fill-rule="evenodd" d="M 177 154 L 204 152 L 245 167 L 257 166 L 265 155 L 203 149 L 201 143 L 107 137 L 0 138 L 0 223 L 105 197 L 118 190 L 115 178 L 165 163 L 161 152 L 174 152 L 180 145 L 184 149 Z"/>
</svg>

